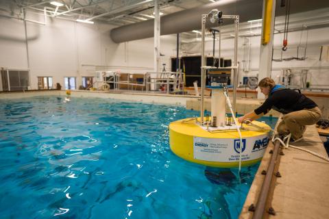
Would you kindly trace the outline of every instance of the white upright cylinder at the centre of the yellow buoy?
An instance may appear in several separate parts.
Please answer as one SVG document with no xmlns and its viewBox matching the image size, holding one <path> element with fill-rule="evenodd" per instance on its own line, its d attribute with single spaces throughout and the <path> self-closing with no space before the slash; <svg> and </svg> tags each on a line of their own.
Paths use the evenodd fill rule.
<svg viewBox="0 0 329 219">
<path fill-rule="evenodd" d="M 216 120 L 216 127 L 226 125 L 226 101 L 223 89 L 212 89 L 211 94 L 211 120 Z M 216 118 L 214 119 L 214 117 Z"/>
</svg>

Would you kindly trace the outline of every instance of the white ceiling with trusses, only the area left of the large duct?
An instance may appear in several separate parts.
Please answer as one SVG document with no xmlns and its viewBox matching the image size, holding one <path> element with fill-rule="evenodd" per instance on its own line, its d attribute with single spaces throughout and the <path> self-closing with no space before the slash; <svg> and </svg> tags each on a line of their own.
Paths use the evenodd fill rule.
<svg viewBox="0 0 329 219">
<path fill-rule="evenodd" d="M 53 0 L 51 0 L 53 1 Z M 152 19 L 154 12 L 154 1 L 151 0 L 57 0 L 62 3 L 56 9 L 48 0 L 2 0 L 2 12 L 9 12 L 14 8 L 29 11 L 47 13 L 47 16 L 57 16 L 76 19 L 90 20 L 94 22 L 106 22 L 111 25 L 121 26 L 131 23 L 147 21 Z M 160 12 L 163 15 L 195 8 L 209 0 L 158 0 Z M 162 15 L 162 16 L 163 16 Z"/>
</svg>

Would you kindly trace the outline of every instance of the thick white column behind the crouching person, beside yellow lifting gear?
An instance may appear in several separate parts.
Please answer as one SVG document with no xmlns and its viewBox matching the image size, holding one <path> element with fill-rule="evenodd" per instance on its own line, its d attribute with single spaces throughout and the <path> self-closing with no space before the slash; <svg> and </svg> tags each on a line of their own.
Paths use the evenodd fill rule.
<svg viewBox="0 0 329 219">
<path fill-rule="evenodd" d="M 266 2 L 271 2 L 271 31 L 270 38 L 267 44 L 262 44 L 262 38 L 264 34 L 264 28 L 262 29 L 262 38 L 260 38 L 260 57 L 259 57 L 259 72 L 258 72 L 258 81 L 265 77 L 271 77 L 271 68 L 272 68 L 272 48 L 273 48 L 273 36 L 274 36 L 274 21 L 275 21 L 275 12 L 276 12 L 276 1 L 272 0 L 263 0 L 263 27 L 265 25 L 265 11 L 266 11 Z M 258 99 L 265 99 L 263 93 L 258 89 L 257 94 Z"/>
</svg>

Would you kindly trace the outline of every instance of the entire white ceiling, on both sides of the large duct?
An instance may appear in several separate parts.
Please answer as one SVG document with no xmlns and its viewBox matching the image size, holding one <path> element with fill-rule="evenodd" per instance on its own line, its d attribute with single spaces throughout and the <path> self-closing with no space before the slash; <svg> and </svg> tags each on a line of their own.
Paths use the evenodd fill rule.
<svg viewBox="0 0 329 219">
<path fill-rule="evenodd" d="M 53 0 L 51 0 L 53 1 Z M 72 21 L 82 19 L 94 21 L 95 23 L 108 23 L 114 26 L 122 26 L 141 21 L 153 19 L 154 1 L 151 0 L 57 0 L 63 5 L 56 7 L 49 0 L 1 0 L 0 1 L 0 16 L 11 16 L 23 18 L 23 10 L 27 12 L 36 12 L 46 14 L 47 16 L 65 18 Z M 206 3 L 212 3 L 216 0 L 158 0 L 160 4 L 160 12 L 162 16 L 202 6 Z M 232 7 L 239 8 L 239 2 L 249 0 L 217 0 L 230 1 Z M 295 28 L 316 28 L 329 26 L 329 10 L 323 8 L 328 5 L 329 0 L 303 1 L 291 0 L 291 13 L 297 13 L 291 16 L 291 21 L 295 23 Z M 294 3 L 294 1 L 296 3 Z M 307 5 L 308 4 L 308 5 Z M 318 5 L 318 6 L 317 6 Z M 308 8 L 317 11 L 307 12 Z M 277 0 L 277 14 L 284 13 L 284 8 L 280 8 L 280 0 Z M 251 12 L 256 13 L 256 12 Z M 261 12 L 260 12 L 261 14 Z M 284 18 L 284 17 L 283 17 Z M 280 31 L 282 26 L 282 17 L 276 19 L 278 26 L 277 31 Z M 200 21 L 201 22 L 201 21 Z M 241 33 L 245 29 L 246 35 L 258 34 L 260 31 L 261 22 L 241 24 Z M 291 28 L 293 27 L 293 23 Z M 230 37 L 230 27 L 228 26 L 228 37 Z M 225 37 L 225 27 L 223 27 L 223 35 Z M 194 32 L 184 33 L 182 36 L 185 40 L 196 39 L 197 34 Z M 188 41 L 186 41 L 188 42 Z"/>
</svg>

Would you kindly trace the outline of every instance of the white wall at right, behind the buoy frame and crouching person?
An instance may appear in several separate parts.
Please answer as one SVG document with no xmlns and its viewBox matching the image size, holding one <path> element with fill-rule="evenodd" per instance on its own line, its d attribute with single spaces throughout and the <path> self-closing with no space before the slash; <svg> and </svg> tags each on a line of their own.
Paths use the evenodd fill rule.
<svg viewBox="0 0 329 219">
<path fill-rule="evenodd" d="M 329 28 L 310 29 L 308 31 L 294 31 L 288 34 L 288 49 L 282 54 L 282 58 L 296 57 L 298 44 L 306 45 L 306 60 L 291 60 L 272 63 L 272 77 L 278 80 L 280 75 L 280 68 L 308 68 L 310 74 L 308 81 L 313 87 L 322 88 L 324 85 L 329 86 L 329 62 L 326 60 L 319 61 L 321 45 L 329 44 L 328 38 Z M 307 40 L 306 40 L 307 34 Z M 302 37 L 301 37 L 302 36 Z M 242 81 L 243 76 L 256 76 L 258 74 L 259 55 L 260 55 L 260 36 L 248 37 L 251 43 L 251 55 L 250 55 L 250 70 L 243 72 L 242 60 L 243 60 L 243 42 L 244 38 L 239 38 L 238 47 L 238 62 L 240 64 L 239 69 L 239 81 Z M 301 40 L 302 39 L 302 40 Z M 283 34 L 275 34 L 274 36 L 274 56 L 273 58 L 280 57 L 280 51 L 282 51 Z M 218 41 L 215 42 L 215 56 L 218 56 Z M 221 40 L 221 57 L 227 59 L 234 58 L 234 39 Z M 212 56 L 212 41 L 206 42 L 206 54 Z M 188 44 L 182 44 L 182 50 L 186 53 L 201 53 L 201 43 L 191 42 Z M 319 68 L 319 69 L 316 69 Z"/>
</svg>

